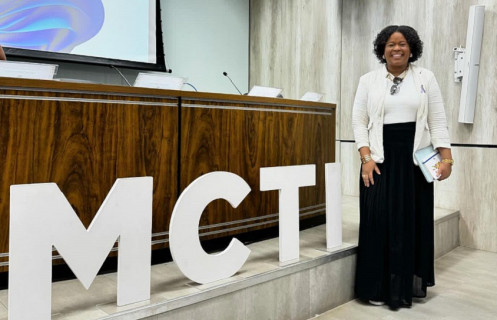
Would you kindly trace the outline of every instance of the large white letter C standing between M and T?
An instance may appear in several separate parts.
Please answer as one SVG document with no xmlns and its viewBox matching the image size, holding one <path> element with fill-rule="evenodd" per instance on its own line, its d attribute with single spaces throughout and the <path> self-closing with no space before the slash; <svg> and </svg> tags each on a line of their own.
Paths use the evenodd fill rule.
<svg viewBox="0 0 497 320">
<path fill-rule="evenodd" d="M 198 227 L 210 202 L 225 199 L 236 208 L 249 192 L 245 180 L 229 172 L 205 174 L 183 191 L 171 216 L 169 248 L 185 276 L 198 283 L 209 283 L 229 278 L 240 270 L 250 249 L 233 239 L 223 252 L 208 254 L 200 244 Z"/>
</svg>

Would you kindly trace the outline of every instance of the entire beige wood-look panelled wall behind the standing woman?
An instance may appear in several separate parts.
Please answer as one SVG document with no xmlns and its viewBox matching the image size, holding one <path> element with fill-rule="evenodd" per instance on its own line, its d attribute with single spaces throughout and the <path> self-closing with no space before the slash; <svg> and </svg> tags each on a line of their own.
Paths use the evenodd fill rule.
<svg viewBox="0 0 497 320">
<path fill-rule="evenodd" d="M 453 48 L 465 46 L 469 6 L 485 5 L 474 124 L 457 122 L 461 84 Z M 320 91 L 337 103 L 342 191 L 358 195 L 351 113 L 359 77 L 380 67 L 372 42 L 386 25 L 414 27 L 424 42 L 416 63 L 437 77 L 446 105 L 452 177 L 436 183 L 438 207 L 461 211 L 461 244 L 497 252 L 497 0 L 251 0 L 250 85 L 284 88 L 288 98 Z M 310 85 L 309 85 L 310 84 Z"/>
</svg>

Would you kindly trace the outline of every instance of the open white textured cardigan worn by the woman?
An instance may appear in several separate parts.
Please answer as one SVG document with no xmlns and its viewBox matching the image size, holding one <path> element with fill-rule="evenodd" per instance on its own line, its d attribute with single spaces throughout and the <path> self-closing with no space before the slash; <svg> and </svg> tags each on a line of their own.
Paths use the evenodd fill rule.
<svg viewBox="0 0 497 320">
<path fill-rule="evenodd" d="M 450 148 L 449 131 L 440 87 L 433 72 L 409 66 L 414 85 L 419 88 L 421 104 L 416 115 L 414 152 L 433 144 L 434 148 Z M 357 149 L 367 146 L 376 163 L 385 160 L 383 151 L 383 115 L 385 95 L 389 92 L 386 67 L 371 71 L 359 80 L 352 110 L 352 127 Z"/>
</svg>

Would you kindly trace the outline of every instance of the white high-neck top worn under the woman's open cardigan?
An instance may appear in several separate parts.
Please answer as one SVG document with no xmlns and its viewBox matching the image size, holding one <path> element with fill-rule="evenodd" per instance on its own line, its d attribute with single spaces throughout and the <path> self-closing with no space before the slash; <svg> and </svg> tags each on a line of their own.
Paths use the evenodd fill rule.
<svg viewBox="0 0 497 320">
<path fill-rule="evenodd" d="M 415 122 L 421 97 L 415 89 L 412 72 L 407 72 L 404 80 L 398 84 L 397 93 L 393 95 L 390 94 L 392 85 L 393 81 L 388 79 L 383 124 Z"/>
</svg>

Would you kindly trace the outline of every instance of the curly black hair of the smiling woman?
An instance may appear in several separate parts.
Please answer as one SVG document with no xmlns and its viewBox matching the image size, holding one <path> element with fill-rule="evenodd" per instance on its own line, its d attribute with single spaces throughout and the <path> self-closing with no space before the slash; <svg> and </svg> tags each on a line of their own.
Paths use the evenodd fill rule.
<svg viewBox="0 0 497 320">
<path fill-rule="evenodd" d="M 386 63 L 387 61 L 383 57 L 385 54 L 385 45 L 388 41 L 388 38 L 394 32 L 400 32 L 406 38 L 407 43 L 409 44 L 409 49 L 411 50 L 412 57 L 409 58 L 409 62 L 414 62 L 418 60 L 423 54 L 423 41 L 418 36 L 418 33 L 414 28 L 409 26 L 388 26 L 378 33 L 376 39 L 373 41 L 374 45 L 374 54 L 380 60 L 380 63 Z"/>
</svg>

